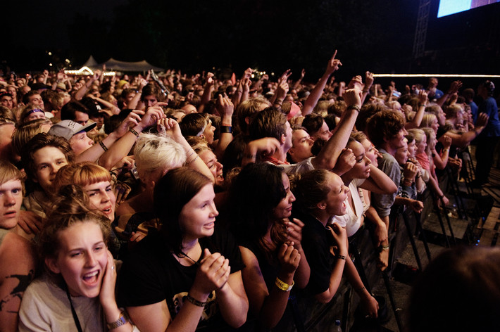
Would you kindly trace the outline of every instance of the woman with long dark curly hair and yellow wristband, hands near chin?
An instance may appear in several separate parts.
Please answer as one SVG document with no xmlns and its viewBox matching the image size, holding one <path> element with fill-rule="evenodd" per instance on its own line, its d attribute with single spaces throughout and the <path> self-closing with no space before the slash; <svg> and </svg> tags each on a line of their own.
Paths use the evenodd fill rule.
<svg viewBox="0 0 500 332">
<path fill-rule="evenodd" d="M 295 197 L 287 174 L 267 163 L 246 165 L 230 189 L 230 219 L 245 267 L 250 314 L 258 331 L 275 327 L 296 283 L 304 288 L 309 266 L 301 248 L 299 219 L 289 219 Z"/>
</svg>

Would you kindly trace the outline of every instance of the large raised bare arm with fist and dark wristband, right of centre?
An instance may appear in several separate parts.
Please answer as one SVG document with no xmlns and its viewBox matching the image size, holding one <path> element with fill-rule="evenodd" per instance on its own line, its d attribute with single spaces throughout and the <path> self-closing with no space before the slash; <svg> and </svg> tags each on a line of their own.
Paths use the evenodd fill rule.
<svg viewBox="0 0 500 332">
<path fill-rule="evenodd" d="M 347 108 L 344 110 L 337 127 L 335 127 L 335 132 L 318 153 L 318 156 L 311 160 L 316 169 L 332 170 L 335 167 L 337 158 L 339 158 L 349 140 L 361 109 L 361 91 L 358 89 L 347 90 L 344 94 L 344 101 Z"/>
</svg>

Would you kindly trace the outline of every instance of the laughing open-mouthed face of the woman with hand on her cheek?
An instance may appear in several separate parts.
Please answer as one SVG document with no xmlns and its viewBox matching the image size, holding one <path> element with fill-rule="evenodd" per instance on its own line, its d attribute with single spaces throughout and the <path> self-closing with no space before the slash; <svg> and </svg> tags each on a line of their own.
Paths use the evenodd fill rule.
<svg viewBox="0 0 500 332">
<path fill-rule="evenodd" d="M 59 250 L 46 258 L 52 272 L 61 274 L 73 296 L 96 298 L 108 264 L 108 248 L 96 222 L 77 222 L 58 231 Z"/>
</svg>

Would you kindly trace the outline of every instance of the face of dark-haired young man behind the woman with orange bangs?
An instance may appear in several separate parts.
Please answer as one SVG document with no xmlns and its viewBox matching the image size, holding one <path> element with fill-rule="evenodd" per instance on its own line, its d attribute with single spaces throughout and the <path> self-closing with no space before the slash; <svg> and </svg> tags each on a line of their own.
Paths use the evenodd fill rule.
<svg viewBox="0 0 500 332">
<path fill-rule="evenodd" d="M 68 165 L 68 160 L 58 148 L 45 146 L 33 153 L 33 163 L 35 164 L 33 181 L 38 182 L 42 189 L 49 193 L 57 171 L 64 165 Z"/>
</svg>

